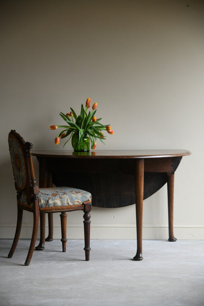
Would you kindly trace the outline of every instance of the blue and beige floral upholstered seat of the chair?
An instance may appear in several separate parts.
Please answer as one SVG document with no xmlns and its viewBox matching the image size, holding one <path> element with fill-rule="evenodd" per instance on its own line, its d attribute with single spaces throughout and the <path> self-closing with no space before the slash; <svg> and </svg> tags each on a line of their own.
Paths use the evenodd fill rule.
<svg viewBox="0 0 204 306">
<path fill-rule="evenodd" d="M 88 191 L 70 187 L 40 188 L 38 197 L 40 208 L 81 205 L 92 198 Z M 25 193 L 22 193 L 21 202 L 26 204 Z"/>
</svg>

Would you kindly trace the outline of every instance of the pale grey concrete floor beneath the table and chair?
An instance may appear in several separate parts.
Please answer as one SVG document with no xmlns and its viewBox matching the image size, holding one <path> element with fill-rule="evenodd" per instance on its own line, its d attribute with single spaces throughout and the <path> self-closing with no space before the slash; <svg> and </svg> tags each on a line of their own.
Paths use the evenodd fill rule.
<svg viewBox="0 0 204 306">
<path fill-rule="evenodd" d="M 60 240 L 34 251 L 23 266 L 29 240 L 0 240 L 0 306 L 204 306 L 204 240 L 144 240 L 142 261 L 133 261 L 134 240 Z"/>
</svg>

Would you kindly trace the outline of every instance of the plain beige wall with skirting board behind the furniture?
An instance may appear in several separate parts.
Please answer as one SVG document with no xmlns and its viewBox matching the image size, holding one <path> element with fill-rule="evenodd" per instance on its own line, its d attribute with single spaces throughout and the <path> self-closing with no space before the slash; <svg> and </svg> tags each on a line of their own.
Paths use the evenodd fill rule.
<svg viewBox="0 0 204 306">
<path fill-rule="evenodd" d="M 12 238 L 16 199 L 7 135 L 55 146 L 58 113 L 90 97 L 114 136 L 98 149 L 183 148 L 175 236 L 204 239 L 204 1 L 4 0 L 0 9 L 0 238 Z M 70 144 L 67 149 L 71 149 Z M 37 171 L 37 162 L 35 161 Z M 82 238 L 70 214 L 69 237 Z M 144 201 L 144 238 L 166 239 L 166 186 Z M 25 213 L 22 238 L 32 215 Z M 54 237 L 60 237 L 54 216 Z M 135 238 L 134 205 L 93 208 L 91 238 Z"/>
</svg>

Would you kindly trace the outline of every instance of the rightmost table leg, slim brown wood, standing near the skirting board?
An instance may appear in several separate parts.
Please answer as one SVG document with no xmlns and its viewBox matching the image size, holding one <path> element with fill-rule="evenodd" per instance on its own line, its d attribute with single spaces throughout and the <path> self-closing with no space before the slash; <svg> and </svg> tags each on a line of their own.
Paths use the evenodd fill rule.
<svg viewBox="0 0 204 306">
<path fill-rule="evenodd" d="M 177 241 L 174 237 L 174 174 L 167 173 L 169 241 Z"/>
</svg>

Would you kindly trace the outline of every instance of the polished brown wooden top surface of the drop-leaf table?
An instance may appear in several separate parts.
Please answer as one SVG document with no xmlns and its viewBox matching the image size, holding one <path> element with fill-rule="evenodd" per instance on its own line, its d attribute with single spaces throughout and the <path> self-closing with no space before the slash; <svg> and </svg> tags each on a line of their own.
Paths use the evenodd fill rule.
<svg viewBox="0 0 204 306">
<path fill-rule="evenodd" d="M 33 150 L 32 155 L 53 158 L 84 158 L 84 159 L 137 159 L 163 158 L 190 155 L 191 152 L 183 149 L 172 150 L 98 150 L 90 152 L 73 152 L 71 150 Z"/>
</svg>

